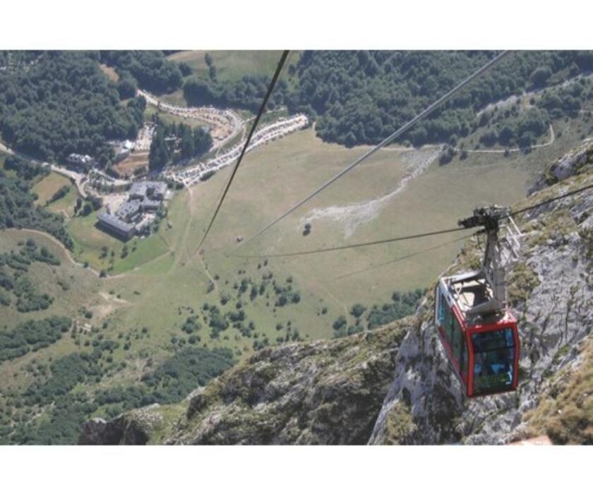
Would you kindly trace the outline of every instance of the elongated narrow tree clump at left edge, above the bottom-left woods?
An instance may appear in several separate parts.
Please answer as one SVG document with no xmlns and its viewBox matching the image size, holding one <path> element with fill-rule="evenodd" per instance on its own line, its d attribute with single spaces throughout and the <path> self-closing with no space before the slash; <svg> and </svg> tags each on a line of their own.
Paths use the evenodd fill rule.
<svg viewBox="0 0 593 494">
<path fill-rule="evenodd" d="M 0 362 L 49 347 L 70 329 L 71 324 L 72 321 L 68 318 L 54 316 L 29 320 L 20 323 L 11 331 L 0 332 Z"/>
</svg>

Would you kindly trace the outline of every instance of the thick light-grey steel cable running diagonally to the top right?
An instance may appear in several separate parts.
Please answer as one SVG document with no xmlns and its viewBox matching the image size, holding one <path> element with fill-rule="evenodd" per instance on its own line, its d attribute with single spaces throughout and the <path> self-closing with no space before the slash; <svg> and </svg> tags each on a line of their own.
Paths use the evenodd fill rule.
<svg viewBox="0 0 593 494">
<path fill-rule="evenodd" d="M 269 223 L 268 225 L 266 225 L 265 227 L 263 227 L 262 229 L 260 229 L 259 231 L 257 231 L 252 236 L 248 237 L 246 240 L 244 240 L 241 243 L 240 246 L 237 246 L 236 248 L 234 248 L 234 251 L 236 251 L 237 249 L 241 248 L 242 246 L 245 246 L 246 243 L 252 241 L 257 236 L 260 236 L 265 231 L 268 231 L 268 229 L 272 228 L 275 224 L 277 224 L 278 222 L 282 221 L 282 219 L 284 219 L 285 217 L 287 217 L 288 215 L 290 215 L 292 212 L 294 212 L 294 210 L 298 209 L 299 207 L 301 207 L 302 205 L 304 205 L 304 203 L 308 202 L 313 197 L 315 197 L 318 193 L 320 193 L 321 191 L 323 191 L 325 188 L 329 187 L 332 183 L 334 183 L 335 181 L 337 181 L 337 179 L 340 179 L 340 177 L 342 177 L 343 175 L 347 174 L 354 167 L 357 167 L 357 165 L 359 165 L 361 162 L 363 162 L 364 159 L 366 159 L 369 156 L 373 155 L 375 152 L 377 152 L 378 150 L 380 150 L 381 147 L 384 147 L 385 145 L 388 145 L 393 140 L 395 140 L 398 137 L 400 137 L 400 135 L 402 135 L 402 133 L 405 133 L 405 131 L 407 131 L 410 127 L 412 127 L 414 125 L 414 123 L 417 123 L 417 121 L 419 121 L 419 120 L 423 119 L 425 116 L 431 114 L 439 105 L 441 105 L 443 102 L 449 100 L 450 97 L 452 97 L 453 95 L 455 95 L 456 92 L 460 91 L 462 88 L 465 87 L 465 85 L 467 85 L 470 82 L 472 82 L 472 80 L 474 80 L 475 78 L 481 76 L 482 73 L 484 73 L 485 71 L 487 71 L 494 64 L 498 63 L 498 61 L 501 61 L 501 59 L 503 59 L 503 57 L 506 56 L 506 55 L 508 55 L 508 54 L 509 54 L 508 51 L 501 52 L 500 54 L 498 54 L 497 56 L 495 56 L 491 61 L 489 61 L 487 64 L 484 64 L 484 66 L 481 66 L 477 71 L 475 71 L 474 73 L 472 73 L 471 76 L 468 76 L 467 78 L 465 78 L 464 80 L 462 80 L 461 83 L 457 84 L 455 86 L 455 88 L 451 89 L 445 95 L 441 96 L 438 100 L 436 100 L 436 102 L 433 102 L 432 104 L 430 104 L 429 107 L 426 107 L 426 109 L 424 109 L 422 112 L 420 112 L 419 114 L 417 114 L 417 116 L 414 116 L 414 118 L 412 120 L 408 121 L 403 126 L 401 126 L 400 128 L 398 128 L 397 131 L 395 131 L 394 133 L 392 133 L 391 135 L 389 135 L 387 138 L 383 139 L 381 141 L 381 143 L 378 143 L 378 145 L 376 145 L 375 147 L 372 147 L 369 151 L 367 151 L 363 155 L 361 155 L 361 157 L 357 158 L 354 162 L 352 162 L 347 167 L 345 167 L 345 169 L 342 169 L 342 171 L 338 172 L 335 176 L 333 176 L 331 179 L 329 179 L 328 181 L 326 181 L 325 183 L 323 183 L 315 191 L 313 191 L 312 193 L 310 193 L 309 195 L 307 195 L 306 198 L 300 200 L 299 203 L 296 203 L 295 205 L 293 205 L 292 207 L 290 207 L 289 210 L 287 210 L 286 212 L 283 212 L 282 215 L 278 216 L 271 223 Z"/>
</svg>

